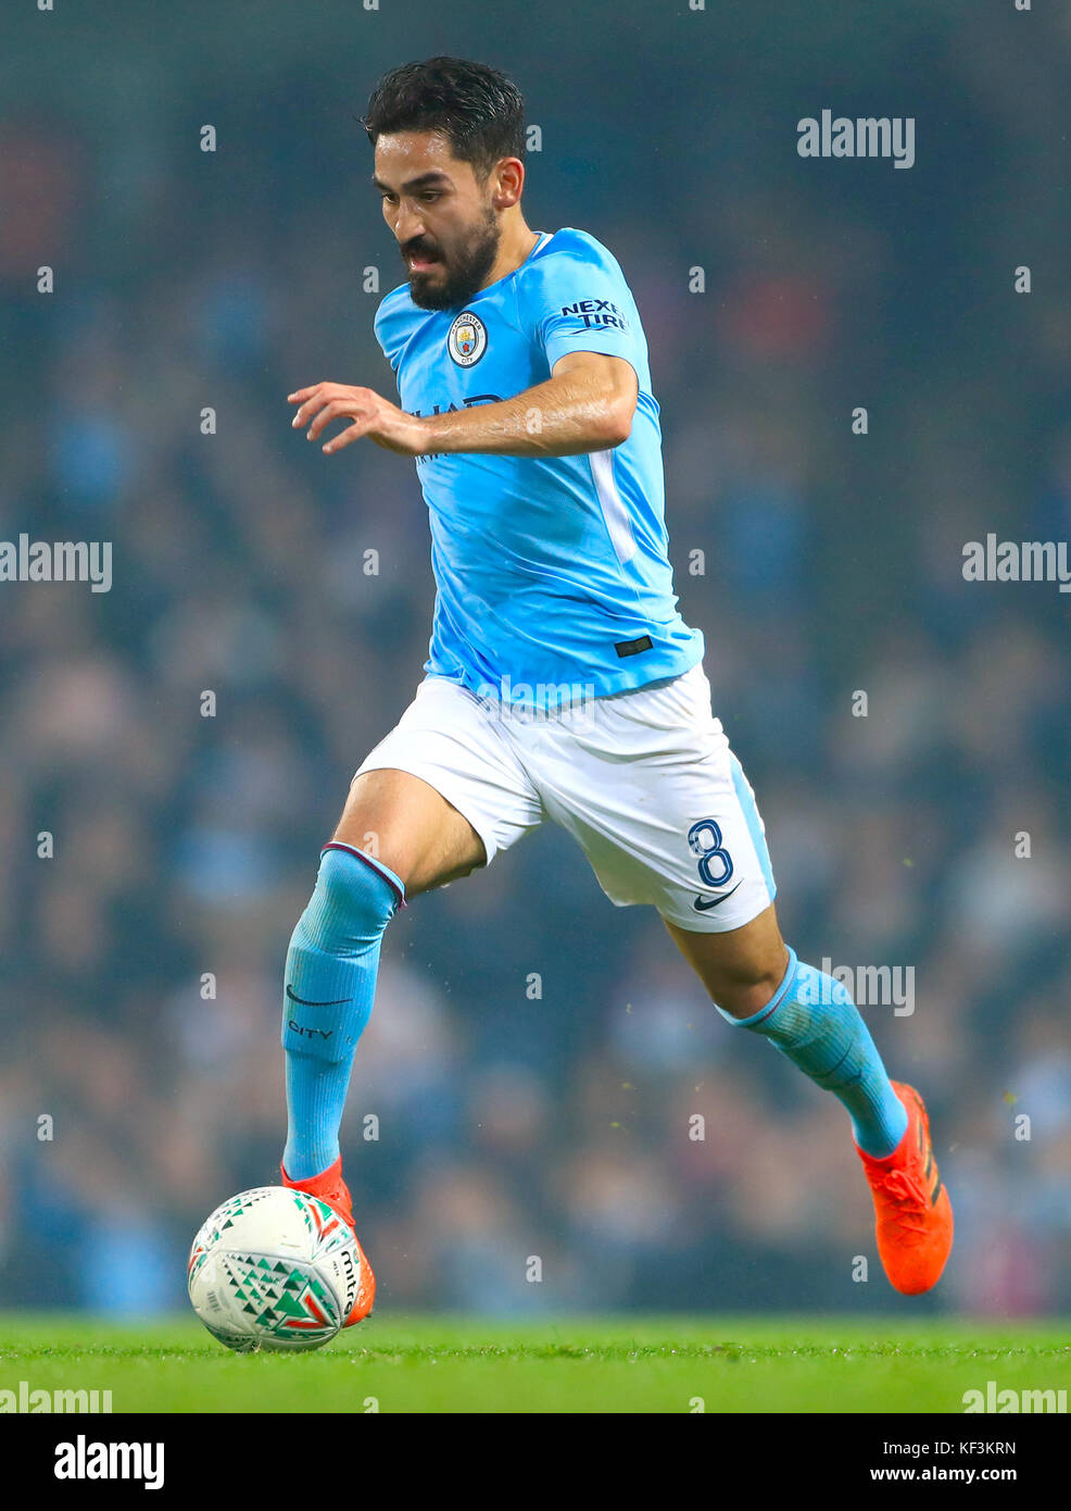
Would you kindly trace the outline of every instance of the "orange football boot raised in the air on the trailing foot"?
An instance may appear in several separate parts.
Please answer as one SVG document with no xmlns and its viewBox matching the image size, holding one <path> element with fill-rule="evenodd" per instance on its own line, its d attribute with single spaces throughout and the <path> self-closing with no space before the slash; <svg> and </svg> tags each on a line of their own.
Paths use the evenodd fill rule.
<svg viewBox="0 0 1071 1511">
<path fill-rule="evenodd" d="M 923 1098 L 899 1080 L 893 1091 L 908 1112 L 906 1133 L 884 1159 L 858 1144 L 856 1153 L 875 1198 L 875 1234 L 885 1274 L 896 1290 L 917 1296 L 938 1283 L 952 1251 L 952 1203 L 937 1173 Z"/>
</svg>

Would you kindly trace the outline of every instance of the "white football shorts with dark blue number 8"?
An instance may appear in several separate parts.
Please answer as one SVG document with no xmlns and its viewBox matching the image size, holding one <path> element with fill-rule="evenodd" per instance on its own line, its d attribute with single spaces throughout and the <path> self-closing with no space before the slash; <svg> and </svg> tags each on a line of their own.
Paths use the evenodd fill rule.
<svg viewBox="0 0 1071 1511">
<path fill-rule="evenodd" d="M 755 795 L 702 666 L 554 713 L 427 677 L 356 775 L 384 769 L 435 787 L 488 864 L 553 819 L 610 902 L 651 904 L 683 929 L 739 929 L 775 896 Z"/>
</svg>

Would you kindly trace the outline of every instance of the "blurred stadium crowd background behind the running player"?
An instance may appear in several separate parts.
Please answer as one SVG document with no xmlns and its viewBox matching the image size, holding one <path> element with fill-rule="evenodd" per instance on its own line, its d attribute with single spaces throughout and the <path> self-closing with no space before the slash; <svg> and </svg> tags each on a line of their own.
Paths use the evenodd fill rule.
<svg viewBox="0 0 1071 1511">
<path fill-rule="evenodd" d="M 1066 17 L 187 0 L 3 36 L 0 538 L 110 539 L 115 585 L 0 586 L 0 1304 L 181 1306 L 199 1219 L 275 1179 L 285 944 L 432 607 L 412 465 L 326 462 L 284 400 L 393 393 L 350 112 L 450 51 L 529 97 L 529 222 L 597 234 L 637 296 L 786 937 L 915 969 L 912 1015 L 866 1015 L 955 1197 L 926 1307 L 1066 1307 L 1068 598 L 961 576 L 988 530 L 1071 530 Z M 823 107 L 915 116 L 915 166 L 801 160 Z M 344 1153 L 390 1306 L 903 1307 L 841 1109 L 553 830 L 391 926 Z"/>
</svg>

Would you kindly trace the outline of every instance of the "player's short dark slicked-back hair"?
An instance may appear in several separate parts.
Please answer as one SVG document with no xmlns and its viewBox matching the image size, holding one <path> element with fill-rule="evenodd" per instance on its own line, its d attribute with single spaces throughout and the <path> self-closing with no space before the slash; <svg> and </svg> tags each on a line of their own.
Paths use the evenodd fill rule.
<svg viewBox="0 0 1071 1511">
<path fill-rule="evenodd" d="M 512 79 L 464 57 L 403 63 L 372 91 L 361 125 L 369 141 L 391 131 L 446 131 L 453 156 L 482 178 L 503 157 L 524 160 L 524 97 Z"/>
</svg>

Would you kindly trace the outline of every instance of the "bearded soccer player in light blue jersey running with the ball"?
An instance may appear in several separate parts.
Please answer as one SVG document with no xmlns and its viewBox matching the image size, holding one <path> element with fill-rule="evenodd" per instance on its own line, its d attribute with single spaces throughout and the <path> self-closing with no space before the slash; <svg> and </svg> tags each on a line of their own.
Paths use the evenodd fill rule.
<svg viewBox="0 0 1071 1511">
<path fill-rule="evenodd" d="M 397 68 L 364 127 L 408 275 L 376 316 L 400 406 L 337 382 L 289 399 L 326 455 L 367 440 L 415 458 L 438 595 L 426 677 L 353 777 L 290 943 L 282 1179 L 352 1225 L 338 1126 L 384 931 L 550 817 L 612 902 L 657 908 L 728 1023 L 844 1105 L 885 1272 L 929 1290 L 952 1207 L 926 1108 L 888 1079 L 847 990 L 781 938 L 763 820 L 677 612 L 621 267 L 586 231 L 529 230 L 524 103 L 495 70 Z"/>
</svg>

